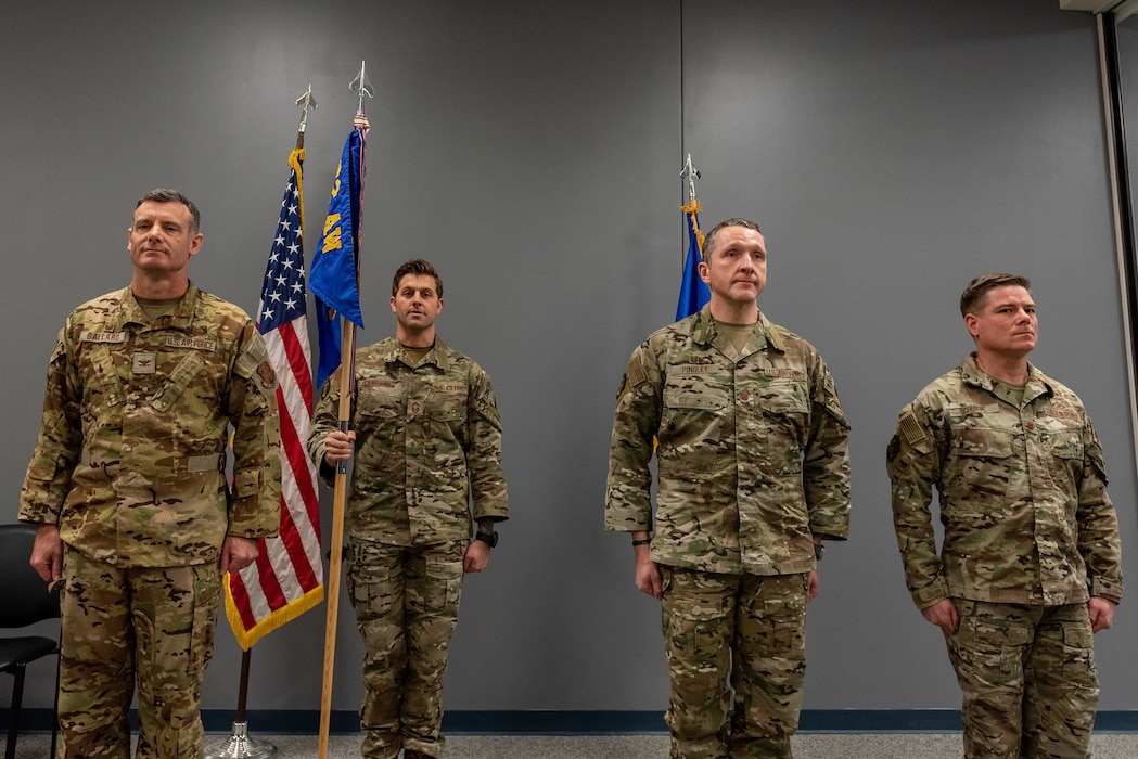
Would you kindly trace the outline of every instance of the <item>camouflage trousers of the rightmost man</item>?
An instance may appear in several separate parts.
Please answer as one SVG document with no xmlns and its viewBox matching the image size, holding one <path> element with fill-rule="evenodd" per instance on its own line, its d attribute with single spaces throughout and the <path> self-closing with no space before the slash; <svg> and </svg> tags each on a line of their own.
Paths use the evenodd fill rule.
<svg viewBox="0 0 1138 759">
<path fill-rule="evenodd" d="M 1087 604 L 953 602 L 960 627 L 946 641 L 964 692 L 965 757 L 1089 757 L 1098 673 Z"/>
</svg>

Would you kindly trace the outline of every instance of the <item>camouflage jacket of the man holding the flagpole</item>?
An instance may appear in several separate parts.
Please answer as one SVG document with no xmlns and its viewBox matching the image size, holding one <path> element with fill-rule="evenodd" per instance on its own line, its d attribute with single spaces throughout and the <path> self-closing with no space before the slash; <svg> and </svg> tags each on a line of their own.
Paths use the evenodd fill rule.
<svg viewBox="0 0 1138 759">
<path fill-rule="evenodd" d="M 321 389 L 308 453 L 331 484 L 324 438 L 339 429 L 341 365 Z M 508 515 L 502 422 L 489 376 L 436 338 L 413 362 L 395 337 L 355 358 L 356 434 L 345 527 L 355 539 L 420 546 L 464 541 L 473 518 Z"/>
</svg>

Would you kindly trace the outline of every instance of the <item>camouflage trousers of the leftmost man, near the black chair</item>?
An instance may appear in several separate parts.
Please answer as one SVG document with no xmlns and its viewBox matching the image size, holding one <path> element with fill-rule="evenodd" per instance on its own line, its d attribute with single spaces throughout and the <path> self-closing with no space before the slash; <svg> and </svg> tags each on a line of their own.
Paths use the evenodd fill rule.
<svg viewBox="0 0 1138 759">
<path fill-rule="evenodd" d="M 119 569 L 64 548 L 59 759 L 125 759 L 138 680 L 138 759 L 200 759 L 217 564 Z"/>
</svg>

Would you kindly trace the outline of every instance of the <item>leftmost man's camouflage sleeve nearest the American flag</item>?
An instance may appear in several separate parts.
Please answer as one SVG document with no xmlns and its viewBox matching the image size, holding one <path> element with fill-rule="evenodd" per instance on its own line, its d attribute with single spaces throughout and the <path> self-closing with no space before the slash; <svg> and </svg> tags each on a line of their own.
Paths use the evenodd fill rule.
<svg viewBox="0 0 1138 759">
<path fill-rule="evenodd" d="M 229 534 L 259 538 L 280 528 L 280 419 L 277 376 L 253 322 L 246 322 L 230 377 L 226 413 L 233 424 L 233 494 Z"/>
</svg>

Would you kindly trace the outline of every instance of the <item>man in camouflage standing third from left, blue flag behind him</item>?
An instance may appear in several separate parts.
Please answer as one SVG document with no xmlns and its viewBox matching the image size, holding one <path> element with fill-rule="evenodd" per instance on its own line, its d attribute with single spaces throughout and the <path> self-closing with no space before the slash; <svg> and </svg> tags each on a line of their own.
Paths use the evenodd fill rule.
<svg viewBox="0 0 1138 759">
<path fill-rule="evenodd" d="M 759 313 L 766 272 L 754 222 L 712 229 L 711 302 L 636 348 L 617 399 L 604 521 L 662 601 L 674 758 L 791 756 L 816 561 L 849 534 L 849 426 L 818 352 Z"/>
</svg>

